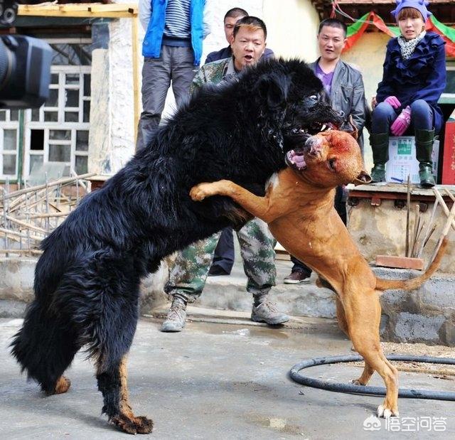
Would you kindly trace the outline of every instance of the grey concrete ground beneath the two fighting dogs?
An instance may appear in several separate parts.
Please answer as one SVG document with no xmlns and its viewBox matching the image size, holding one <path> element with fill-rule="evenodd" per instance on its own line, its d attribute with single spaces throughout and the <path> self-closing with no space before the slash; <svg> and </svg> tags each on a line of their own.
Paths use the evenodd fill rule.
<svg viewBox="0 0 455 440">
<path fill-rule="evenodd" d="M 331 323 L 302 321 L 294 329 L 250 326 L 242 316 L 235 322 L 188 322 L 182 333 L 169 334 L 159 332 L 160 321 L 139 321 L 129 355 L 130 398 L 137 415 L 155 423 L 143 438 L 455 438 L 455 402 L 400 399 L 401 417 L 387 430 L 383 420 L 373 418 L 381 397 L 316 390 L 289 380 L 292 365 L 304 358 L 352 353 Z M 65 395 L 43 397 L 35 383 L 26 382 L 7 348 L 20 326 L 21 319 L 0 320 L 1 439 L 126 439 L 100 414 L 94 368 L 83 354 L 68 371 L 73 385 Z M 361 370 L 327 365 L 307 371 L 348 382 Z M 400 372 L 400 386 L 455 391 L 454 376 L 434 376 Z M 382 386 L 378 375 L 372 385 Z M 377 430 L 365 429 L 371 423 Z"/>
</svg>

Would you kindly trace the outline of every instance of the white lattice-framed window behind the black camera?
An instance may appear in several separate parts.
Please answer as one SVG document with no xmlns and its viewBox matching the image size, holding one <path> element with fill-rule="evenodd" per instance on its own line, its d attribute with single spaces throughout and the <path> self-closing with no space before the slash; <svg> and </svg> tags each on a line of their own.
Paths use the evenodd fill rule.
<svg viewBox="0 0 455 440">
<path fill-rule="evenodd" d="M 87 173 L 91 40 L 54 38 L 48 43 L 54 50 L 48 100 L 39 109 L 21 113 L 0 110 L 2 181 L 27 178 L 48 162 L 59 163 L 57 168 L 63 168 L 65 176 Z M 23 116 L 19 118 L 19 114 Z M 20 133 L 23 139 L 19 139 Z"/>
</svg>

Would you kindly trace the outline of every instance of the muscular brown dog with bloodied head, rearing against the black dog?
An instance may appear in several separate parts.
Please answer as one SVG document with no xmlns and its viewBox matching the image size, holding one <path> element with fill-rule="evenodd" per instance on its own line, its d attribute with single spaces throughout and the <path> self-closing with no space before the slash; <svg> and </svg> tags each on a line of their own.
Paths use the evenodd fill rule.
<svg viewBox="0 0 455 440">
<path fill-rule="evenodd" d="M 446 242 L 422 276 L 407 281 L 376 278 L 333 208 L 336 186 L 371 181 L 357 142 L 345 132 L 328 131 L 309 138 L 301 153 L 288 153 L 288 168 L 274 175 L 265 197 L 231 181 L 218 181 L 194 186 L 191 198 L 228 195 L 267 222 L 284 248 L 319 274 L 318 286 L 330 284 L 337 294 L 340 327 L 365 360 L 363 374 L 353 382 L 366 385 L 377 371 L 387 388 L 378 416 L 397 416 L 397 369 L 380 346 L 379 294 L 385 289 L 417 288 L 439 266 Z"/>
</svg>

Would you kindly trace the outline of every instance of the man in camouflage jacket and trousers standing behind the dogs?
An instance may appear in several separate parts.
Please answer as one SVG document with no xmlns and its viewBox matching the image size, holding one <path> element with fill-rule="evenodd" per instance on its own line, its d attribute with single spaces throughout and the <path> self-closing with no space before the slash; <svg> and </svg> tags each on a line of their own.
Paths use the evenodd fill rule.
<svg viewBox="0 0 455 440">
<path fill-rule="evenodd" d="M 203 65 L 196 73 L 191 90 L 207 82 L 229 80 L 248 65 L 255 65 L 265 49 L 267 29 L 262 20 L 246 16 L 237 21 L 232 36 L 232 57 Z M 186 304 L 196 301 L 203 291 L 213 253 L 220 232 L 200 240 L 178 252 L 166 292 L 172 296 L 172 305 L 161 331 L 181 331 L 185 326 Z M 267 224 L 255 218 L 237 231 L 243 268 L 247 275 L 247 291 L 253 295 L 252 321 L 272 325 L 289 321 L 268 300 L 277 275 L 274 264 L 275 240 Z"/>
</svg>

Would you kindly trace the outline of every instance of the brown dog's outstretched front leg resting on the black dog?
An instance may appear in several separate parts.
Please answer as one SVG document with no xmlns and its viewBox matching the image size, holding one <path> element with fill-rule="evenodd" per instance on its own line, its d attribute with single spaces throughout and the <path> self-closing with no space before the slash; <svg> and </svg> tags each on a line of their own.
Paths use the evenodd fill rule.
<svg viewBox="0 0 455 440">
<path fill-rule="evenodd" d="M 265 197 L 259 197 L 231 181 L 199 183 L 191 188 L 190 195 L 198 202 L 212 195 L 227 195 L 250 214 L 267 223 L 275 220 L 279 214 L 275 214 L 271 209 L 268 192 Z"/>
</svg>

